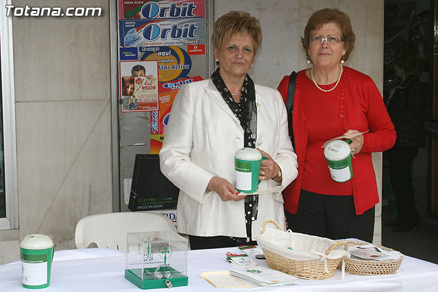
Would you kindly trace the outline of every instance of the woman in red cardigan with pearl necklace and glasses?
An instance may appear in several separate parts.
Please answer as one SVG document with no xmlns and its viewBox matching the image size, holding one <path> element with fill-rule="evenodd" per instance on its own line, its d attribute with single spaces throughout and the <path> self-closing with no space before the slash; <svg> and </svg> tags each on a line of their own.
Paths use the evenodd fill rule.
<svg viewBox="0 0 438 292">
<path fill-rule="evenodd" d="M 313 13 L 301 42 L 313 66 L 296 77 L 292 124 L 298 177 L 284 193 L 287 223 L 298 233 L 371 242 L 378 203 L 371 153 L 394 146 L 394 124 L 372 79 L 342 65 L 355 43 L 348 15 L 333 9 Z M 288 83 L 285 76 L 278 88 L 284 101 Z M 350 133 L 363 133 L 350 144 L 353 176 L 337 183 L 321 146 Z"/>
</svg>

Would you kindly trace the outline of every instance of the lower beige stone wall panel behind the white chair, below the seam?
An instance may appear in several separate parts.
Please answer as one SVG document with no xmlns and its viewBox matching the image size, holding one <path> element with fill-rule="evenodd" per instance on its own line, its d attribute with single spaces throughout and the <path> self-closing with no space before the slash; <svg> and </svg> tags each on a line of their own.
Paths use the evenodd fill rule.
<svg viewBox="0 0 438 292">
<path fill-rule="evenodd" d="M 86 215 L 112 211 L 110 102 L 18 103 L 21 238 L 72 237 Z"/>
</svg>

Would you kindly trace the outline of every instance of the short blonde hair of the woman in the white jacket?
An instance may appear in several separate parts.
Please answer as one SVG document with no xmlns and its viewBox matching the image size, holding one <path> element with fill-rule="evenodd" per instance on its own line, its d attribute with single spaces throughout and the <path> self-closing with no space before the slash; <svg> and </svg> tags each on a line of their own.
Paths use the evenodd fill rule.
<svg viewBox="0 0 438 292">
<path fill-rule="evenodd" d="M 254 39 L 254 55 L 261 45 L 261 26 L 257 18 L 243 11 L 230 11 L 218 18 L 214 23 L 211 42 L 215 49 L 222 49 L 234 34 L 252 36 Z"/>
</svg>

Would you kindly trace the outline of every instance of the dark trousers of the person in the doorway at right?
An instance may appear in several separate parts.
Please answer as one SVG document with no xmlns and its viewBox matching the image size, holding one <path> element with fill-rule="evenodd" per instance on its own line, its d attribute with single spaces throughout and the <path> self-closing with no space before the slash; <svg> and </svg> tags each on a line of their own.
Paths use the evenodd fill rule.
<svg viewBox="0 0 438 292">
<path fill-rule="evenodd" d="M 418 147 L 399 146 L 387 151 L 389 158 L 389 177 L 396 196 L 398 216 L 403 224 L 420 224 L 420 215 L 415 207 L 411 168 L 417 156 Z"/>
</svg>

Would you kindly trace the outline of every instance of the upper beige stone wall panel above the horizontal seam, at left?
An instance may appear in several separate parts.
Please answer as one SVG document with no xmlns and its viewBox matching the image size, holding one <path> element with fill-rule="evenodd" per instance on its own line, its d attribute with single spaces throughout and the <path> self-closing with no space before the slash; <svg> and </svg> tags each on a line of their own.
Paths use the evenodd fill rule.
<svg viewBox="0 0 438 292">
<path fill-rule="evenodd" d="M 24 7 L 29 1 L 13 1 Z M 101 7 L 99 17 L 13 17 L 16 101 L 109 100 L 109 1 L 32 1 L 32 7 Z"/>
</svg>

